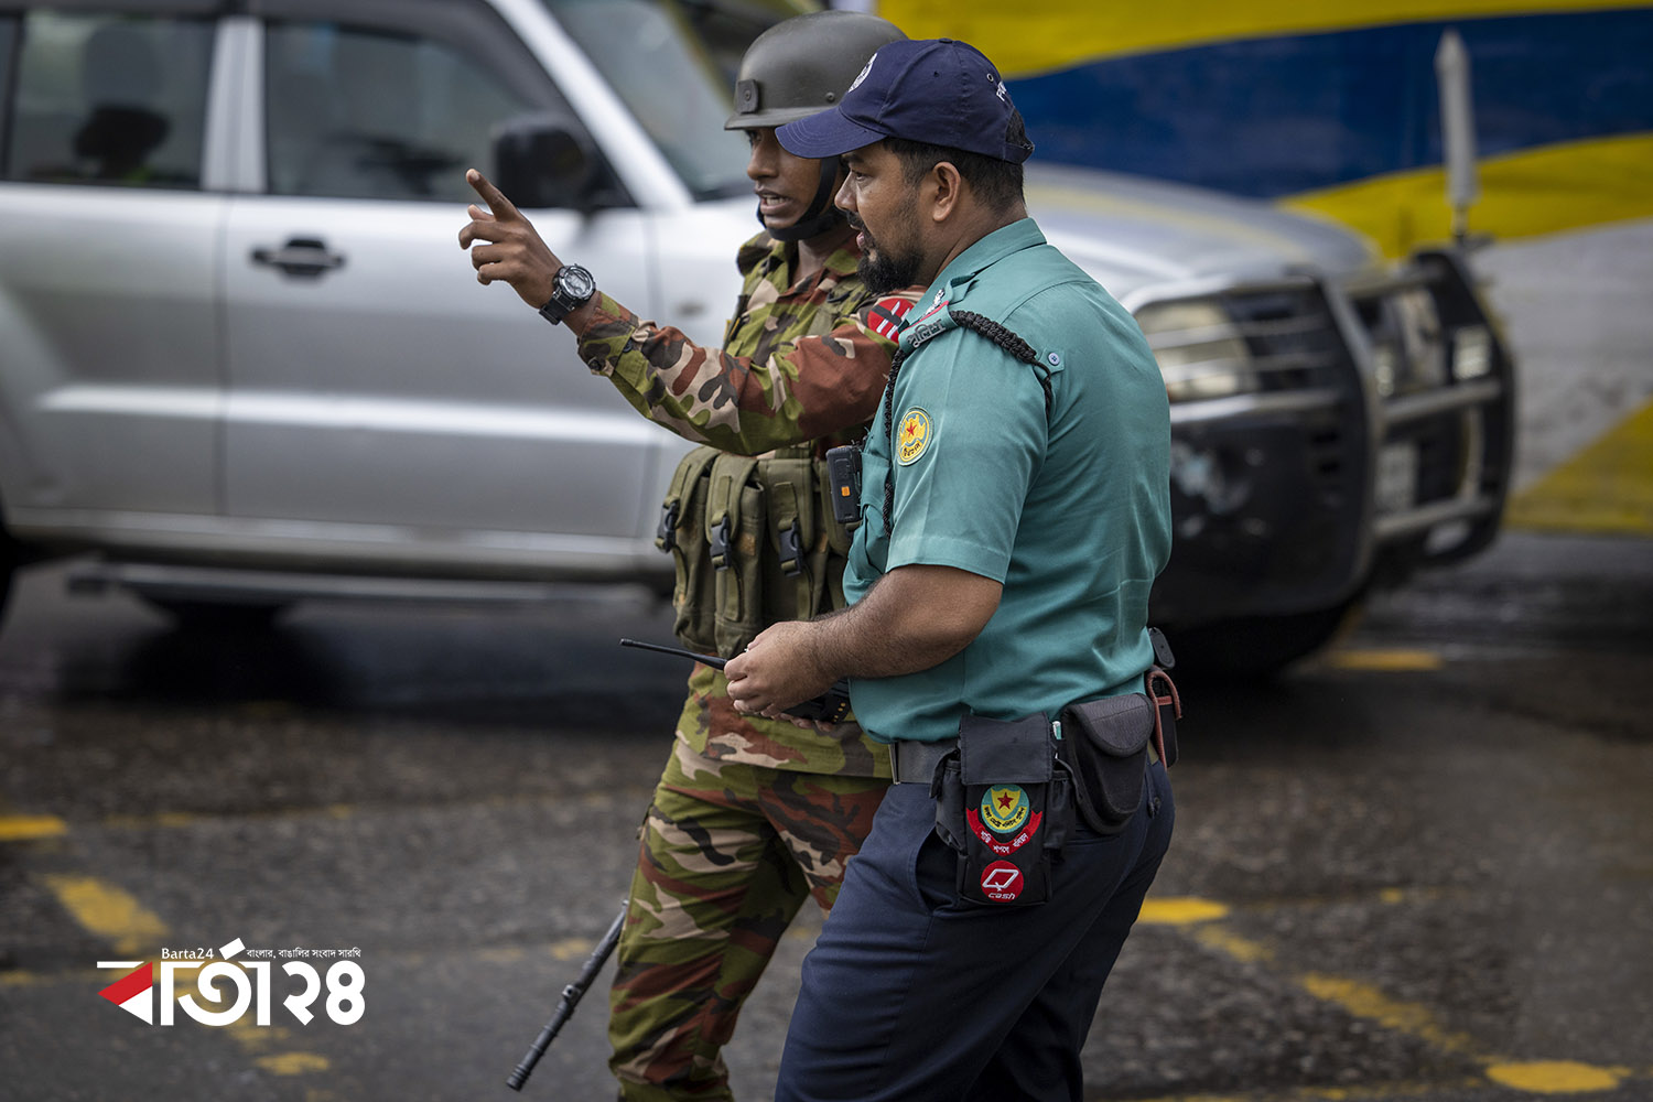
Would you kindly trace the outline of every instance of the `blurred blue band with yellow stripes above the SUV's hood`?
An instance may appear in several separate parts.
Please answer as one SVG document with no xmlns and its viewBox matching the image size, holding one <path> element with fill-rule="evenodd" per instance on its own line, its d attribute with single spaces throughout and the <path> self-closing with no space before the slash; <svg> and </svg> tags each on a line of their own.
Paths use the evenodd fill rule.
<svg viewBox="0 0 1653 1102">
<path fill-rule="evenodd" d="M 1043 159 L 1316 210 L 1387 253 L 1448 236 L 1435 51 L 1470 53 L 1481 200 L 1526 236 L 1653 215 L 1653 7 L 1579 0 L 883 0 L 980 45 Z"/>
</svg>

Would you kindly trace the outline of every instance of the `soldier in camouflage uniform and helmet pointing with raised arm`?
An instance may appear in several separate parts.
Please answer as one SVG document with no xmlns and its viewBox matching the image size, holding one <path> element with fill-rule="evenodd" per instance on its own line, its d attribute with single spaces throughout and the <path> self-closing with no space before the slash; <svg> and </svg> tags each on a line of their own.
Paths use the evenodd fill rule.
<svg viewBox="0 0 1653 1102">
<path fill-rule="evenodd" d="M 678 567 L 678 636 L 737 654 L 765 626 L 843 605 L 850 535 L 826 509 L 826 448 L 865 435 L 914 291 L 871 294 L 831 197 L 836 159 L 787 154 L 775 127 L 830 107 L 901 31 L 851 12 L 802 15 L 747 50 L 727 129 L 746 131 L 764 231 L 741 246 L 741 299 L 721 349 L 640 321 L 562 264 L 478 172 L 460 246 L 579 337 L 580 359 L 646 418 L 703 444 L 678 468 L 660 544 Z M 610 996 L 622 1099 L 731 1099 L 721 1047 L 805 895 L 831 907 L 871 828 L 888 752 L 741 715 L 696 666 L 643 824 Z"/>
</svg>

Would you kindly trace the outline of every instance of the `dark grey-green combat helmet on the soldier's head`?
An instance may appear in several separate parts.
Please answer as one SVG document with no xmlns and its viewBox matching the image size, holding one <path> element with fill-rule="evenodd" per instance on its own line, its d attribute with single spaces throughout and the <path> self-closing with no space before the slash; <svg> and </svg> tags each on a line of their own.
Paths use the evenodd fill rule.
<svg viewBox="0 0 1653 1102">
<path fill-rule="evenodd" d="M 752 40 L 734 84 L 726 131 L 782 126 L 836 106 L 878 48 L 906 38 L 861 12 L 810 12 Z"/>
</svg>

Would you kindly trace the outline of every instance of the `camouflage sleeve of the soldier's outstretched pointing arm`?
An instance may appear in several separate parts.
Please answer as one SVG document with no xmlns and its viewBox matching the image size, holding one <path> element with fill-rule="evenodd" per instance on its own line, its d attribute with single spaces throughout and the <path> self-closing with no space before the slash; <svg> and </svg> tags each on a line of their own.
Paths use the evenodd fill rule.
<svg viewBox="0 0 1653 1102">
<path fill-rule="evenodd" d="M 917 291 L 860 296 L 840 307 L 830 332 L 784 340 L 757 360 L 698 345 L 598 294 L 580 334 L 580 359 L 638 413 L 678 436 L 759 454 L 873 416 L 894 352 L 884 306 L 893 297 L 911 304 Z"/>
</svg>

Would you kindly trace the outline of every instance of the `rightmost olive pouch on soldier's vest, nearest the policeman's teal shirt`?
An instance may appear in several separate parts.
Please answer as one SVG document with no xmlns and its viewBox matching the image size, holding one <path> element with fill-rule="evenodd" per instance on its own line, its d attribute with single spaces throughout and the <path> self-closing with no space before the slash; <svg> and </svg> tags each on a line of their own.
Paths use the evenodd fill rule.
<svg viewBox="0 0 1653 1102">
<path fill-rule="evenodd" d="M 764 487 L 769 544 L 764 553 L 764 623 L 810 620 L 822 608 L 825 575 L 815 461 L 808 456 L 759 459 L 757 481 Z"/>
</svg>

